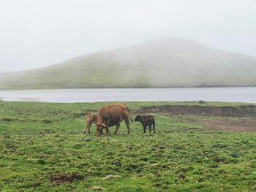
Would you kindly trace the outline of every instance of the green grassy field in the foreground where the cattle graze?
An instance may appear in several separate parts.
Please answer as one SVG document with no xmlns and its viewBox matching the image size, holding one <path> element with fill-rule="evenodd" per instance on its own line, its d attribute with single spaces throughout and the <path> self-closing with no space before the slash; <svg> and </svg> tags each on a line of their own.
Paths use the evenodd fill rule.
<svg viewBox="0 0 256 192">
<path fill-rule="evenodd" d="M 114 127 L 110 137 L 95 137 L 94 127 L 84 135 L 85 115 L 103 104 L 0 101 L 0 191 L 256 191 L 255 132 L 214 131 L 163 112 L 154 114 L 156 134 L 136 122 L 130 135 L 124 123 L 118 135 Z M 127 102 L 133 118 L 159 104 L 180 103 Z"/>
</svg>

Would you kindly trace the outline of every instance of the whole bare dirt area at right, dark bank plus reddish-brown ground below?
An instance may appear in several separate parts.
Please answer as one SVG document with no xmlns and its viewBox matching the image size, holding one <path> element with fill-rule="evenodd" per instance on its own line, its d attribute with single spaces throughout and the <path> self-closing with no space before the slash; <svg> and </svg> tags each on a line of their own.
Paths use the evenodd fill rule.
<svg viewBox="0 0 256 192">
<path fill-rule="evenodd" d="M 178 121 L 219 131 L 256 131 L 256 105 L 162 105 L 142 107 L 138 112 L 164 113 Z"/>
</svg>

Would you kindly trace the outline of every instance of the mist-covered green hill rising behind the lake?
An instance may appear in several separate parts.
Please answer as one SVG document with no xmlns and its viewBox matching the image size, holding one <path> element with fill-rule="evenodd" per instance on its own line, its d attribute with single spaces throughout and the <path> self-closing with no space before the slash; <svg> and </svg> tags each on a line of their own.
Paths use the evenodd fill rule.
<svg viewBox="0 0 256 192">
<path fill-rule="evenodd" d="M 0 74 L 0 89 L 256 85 L 256 57 L 165 37 Z"/>
</svg>

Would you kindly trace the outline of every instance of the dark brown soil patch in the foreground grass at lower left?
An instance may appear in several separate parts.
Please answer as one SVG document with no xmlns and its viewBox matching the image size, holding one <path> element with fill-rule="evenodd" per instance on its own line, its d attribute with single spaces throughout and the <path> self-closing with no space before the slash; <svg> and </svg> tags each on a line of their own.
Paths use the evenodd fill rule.
<svg viewBox="0 0 256 192">
<path fill-rule="evenodd" d="M 83 175 L 80 175 L 78 173 L 59 173 L 50 176 L 50 181 L 52 183 L 55 183 L 56 185 L 60 185 L 61 183 L 72 183 L 75 180 L 83 179 Z"/>
</svg>

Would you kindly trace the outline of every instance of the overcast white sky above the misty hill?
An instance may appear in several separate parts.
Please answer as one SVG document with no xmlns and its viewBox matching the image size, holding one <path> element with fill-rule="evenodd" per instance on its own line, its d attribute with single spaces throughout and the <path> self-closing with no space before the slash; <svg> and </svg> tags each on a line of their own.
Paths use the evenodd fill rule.
<svg viewBox="0 0 256 192">
<path fill-rule="evenodd" d="M 0 72 L 166 36 L 256 56 L 256 0 L 0 0 Z"/>
</svg>

